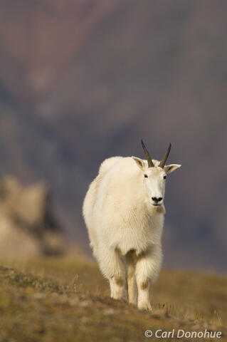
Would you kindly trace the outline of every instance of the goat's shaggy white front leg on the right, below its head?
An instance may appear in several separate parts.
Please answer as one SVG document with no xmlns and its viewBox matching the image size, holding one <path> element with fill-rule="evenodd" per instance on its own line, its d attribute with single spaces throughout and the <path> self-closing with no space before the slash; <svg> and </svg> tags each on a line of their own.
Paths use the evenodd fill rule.
<svg viewBox="0 0 227 342">
<path fill-rule="evenodd" d="M 136 279 L 138 288 L 138 309 L 151 311 L 149 287 L 157 279 L 162 264 L 162 249 L 154 246 L 138 257 Z"/>
</svg>

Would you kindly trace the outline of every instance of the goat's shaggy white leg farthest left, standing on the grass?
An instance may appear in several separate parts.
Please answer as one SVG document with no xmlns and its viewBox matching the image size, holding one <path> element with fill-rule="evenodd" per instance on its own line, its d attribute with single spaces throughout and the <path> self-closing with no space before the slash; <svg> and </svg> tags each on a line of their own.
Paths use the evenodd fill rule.
<svg viewBox="0 0 227 342">
<path fill-rule="evenodd" d="M 127 301 L 125 261 L 117 250 L 102 250 L 99 259 L 102 274 L 110 281 L 110 296 Z"/>
</svg>

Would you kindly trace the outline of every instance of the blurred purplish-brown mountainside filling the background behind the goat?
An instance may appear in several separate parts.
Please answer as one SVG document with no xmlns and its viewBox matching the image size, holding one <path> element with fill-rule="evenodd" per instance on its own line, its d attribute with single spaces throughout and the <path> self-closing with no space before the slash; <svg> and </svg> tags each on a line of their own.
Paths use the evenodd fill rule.
<svg viewBox="0 0 227 342">
<path fill-rule="evenodd" d="M 0 175 L 52 189 L 87 252 L 83 197 L 112 155 L 172 143 L 165 266 L 226 271 L 227 2 L 2 0 Z M 0 227 L 1 229 L 1 227 Z"/>
</svg>

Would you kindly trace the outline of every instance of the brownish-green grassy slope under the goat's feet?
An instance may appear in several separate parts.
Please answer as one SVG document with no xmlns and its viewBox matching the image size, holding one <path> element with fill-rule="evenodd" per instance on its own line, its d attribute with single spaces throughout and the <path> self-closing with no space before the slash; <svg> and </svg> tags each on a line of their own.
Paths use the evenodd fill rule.
<svg viewBox="0 0 227 342">
<path fill-rule="evenodd" d="M 0 261 L 0 342 L 155 341 L 144 331 L 173 328 L 227 336 L 226 278 L 164 270 L 151 294 L 152 314 L 110 299 L 92 261 Z"/>
</svg>

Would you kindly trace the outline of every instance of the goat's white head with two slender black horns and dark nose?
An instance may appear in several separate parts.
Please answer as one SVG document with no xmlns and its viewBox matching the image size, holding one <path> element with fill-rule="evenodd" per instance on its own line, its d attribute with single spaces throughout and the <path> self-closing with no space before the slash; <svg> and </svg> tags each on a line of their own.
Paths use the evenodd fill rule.
<svg viewBox="0 0 227 342">
<path fill-rule="evenodd" d="M 170 164 L 165 165 L 167 158 L 169 156 L 169 152 L 171 150 L 171 144 L 167 149 L 167 152 L 164 154 L 164 157 L 160 162 L 153 162 L 152 158 L 149 155 L 147 148 L 142 142 L 142 147 L 144 149 L 144 153 L 147 157 L 147 162 L 144 160 L 132 157 L 134 161 L 137 163 L 137 166 L 142 171 L 141 177 L 144 177 L 144 187 L 147 194 L 147 199 L 150 204 L 153 206 L 160 206 L 164 202 L 164 194 L 165 194 L 165 185 L 167 174 L 173 172 L 174 170 L 181 167 L 179 164 Z"/>
</svg>

